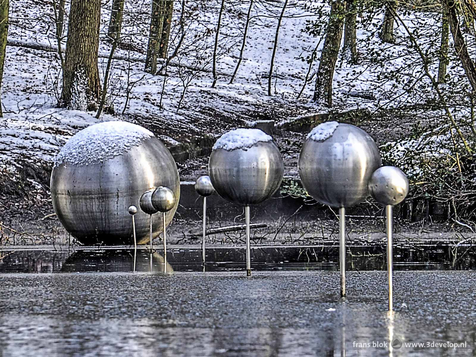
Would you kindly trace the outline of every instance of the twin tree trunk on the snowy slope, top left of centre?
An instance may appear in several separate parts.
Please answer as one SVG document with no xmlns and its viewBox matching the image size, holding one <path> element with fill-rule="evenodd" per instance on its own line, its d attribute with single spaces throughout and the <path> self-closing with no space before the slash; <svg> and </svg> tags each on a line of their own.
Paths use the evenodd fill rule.
<svg viewBox="0 0 476 357">
<path fill-rule="evenodd" d="M 149 44 L 145 70 L 157 72 L 157 58 L 167 58 L 173 0 L 152 0 L 150 13 Z"/>
</svg>

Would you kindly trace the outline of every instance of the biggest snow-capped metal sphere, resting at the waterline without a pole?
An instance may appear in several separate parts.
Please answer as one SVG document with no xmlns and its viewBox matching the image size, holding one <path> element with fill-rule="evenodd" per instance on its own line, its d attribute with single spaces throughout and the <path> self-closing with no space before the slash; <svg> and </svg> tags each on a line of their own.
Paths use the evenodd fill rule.
<svg viewBox="0 0 476 357">
<path fill-rule="evenodd" d="M 131 205 L 147 190 L 169 187 L 180 196 L 177 165 L 153 133 L 138 125 L 109 121 L 68 140 L 51 173 L 53 208 L 66 230 L 83 244 L 132 244 Z M 166 215 L 169 224 L 178 206 Z M 155 216 L 154 216 L 155 217 Z M 149 241 L 149 215 L 134 216 L 140 244 Z M 162 229 L 162 215 L 153 232 Z"/>
</svg>

